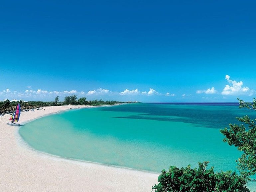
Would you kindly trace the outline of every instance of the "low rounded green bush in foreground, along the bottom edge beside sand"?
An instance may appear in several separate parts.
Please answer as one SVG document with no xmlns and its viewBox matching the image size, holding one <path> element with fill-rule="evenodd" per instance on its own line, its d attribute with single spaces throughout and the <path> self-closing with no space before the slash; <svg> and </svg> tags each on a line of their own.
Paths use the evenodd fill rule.
<svg viewBox="0 0 256 192">
<path fill-rule="evenodd" d="M 162 171 L 159 184 L 152 186 L 155 192 L 247 192 L 246 180 L 235 172 L 214 172 L 213 167 L 206 169 L 209 162 L 199 163 L 192 169 L 170 166 L 169 171 Z"/>
</svg>

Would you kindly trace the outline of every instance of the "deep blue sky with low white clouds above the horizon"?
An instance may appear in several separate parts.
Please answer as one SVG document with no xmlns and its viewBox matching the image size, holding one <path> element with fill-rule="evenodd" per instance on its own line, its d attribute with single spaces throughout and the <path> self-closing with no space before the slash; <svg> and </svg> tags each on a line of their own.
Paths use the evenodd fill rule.
<svg viewBox="0 0 256 192">
<path fill-rule="evenodd" d="M 255 1 L 1 1 L 0 100 L 256 96 Z"/>
</svg>

